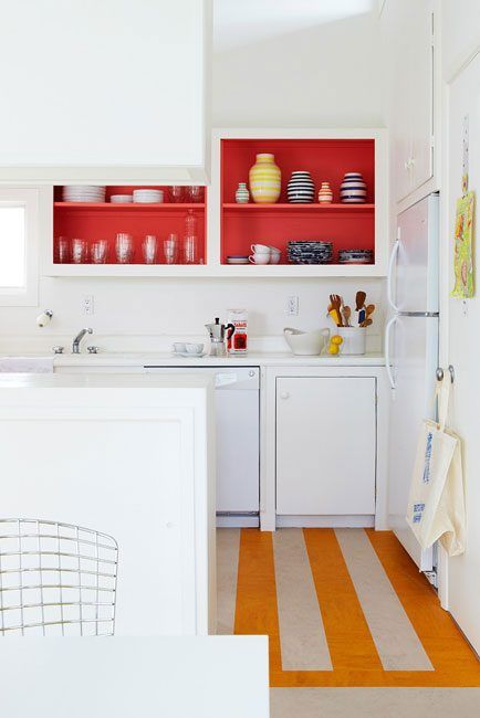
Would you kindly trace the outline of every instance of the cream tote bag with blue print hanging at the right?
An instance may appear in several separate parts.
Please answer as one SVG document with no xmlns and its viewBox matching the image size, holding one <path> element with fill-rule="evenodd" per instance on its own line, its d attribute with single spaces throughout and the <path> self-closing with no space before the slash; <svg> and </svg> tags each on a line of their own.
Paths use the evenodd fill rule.
<svg viewBox="0 0 480 718">
<path fill-rule="evenodd" d="M 465 551 L 465 489 L 460 439 L 445 427 L 449 392 L 449 380 L 437 383 L 439 422 L 421 424 L 406 518 L 421 548 L 440 540 L 458 556 Z"/>
</svg>

